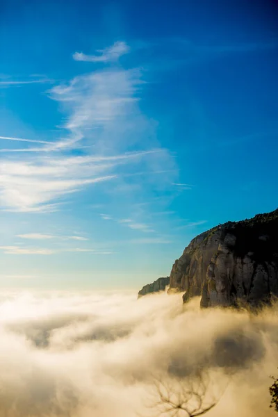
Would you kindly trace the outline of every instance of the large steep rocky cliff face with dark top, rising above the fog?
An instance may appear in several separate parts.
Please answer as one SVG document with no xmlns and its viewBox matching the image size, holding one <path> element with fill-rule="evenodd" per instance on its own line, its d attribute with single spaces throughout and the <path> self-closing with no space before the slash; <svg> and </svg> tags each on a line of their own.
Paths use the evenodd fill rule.
<svg viewBox="0 0 278 417">
<path fill-rule="evenodd" d="M 278 209 L 227 222 L 194 238 L 174 262 L 172 291 L 201 306 L 259 305 L 278 296 Z"/>
</svg>

